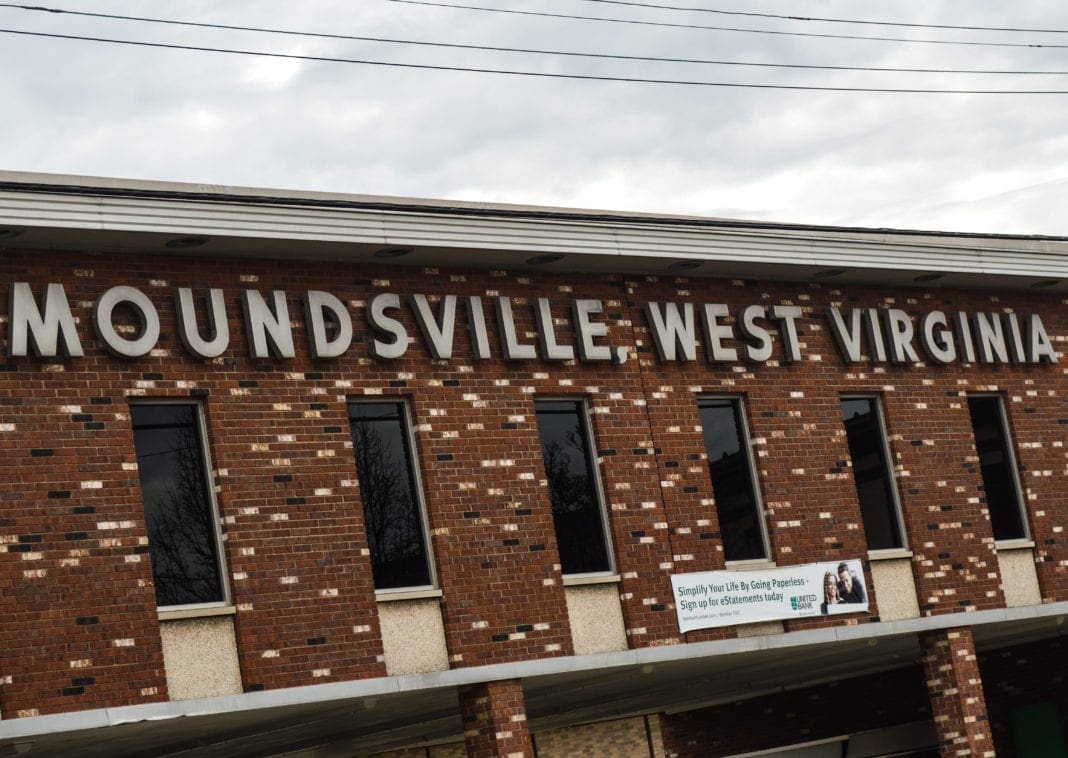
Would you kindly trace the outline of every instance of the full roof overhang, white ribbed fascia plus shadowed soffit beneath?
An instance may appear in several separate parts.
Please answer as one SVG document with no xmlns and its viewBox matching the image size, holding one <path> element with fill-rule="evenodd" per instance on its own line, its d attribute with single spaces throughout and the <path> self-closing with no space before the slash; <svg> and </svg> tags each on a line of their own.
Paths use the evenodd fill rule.
<svg viewBox="0 0 1068 758">
<path fill-rule="evenodd" d="M 13 248 L 33 247 L 35 238 L 42 247 L 74 247 L 75 238 L 67 240 L 65 232 L 83 234 L 77 237 L 83 244 L 110 240 L 152 253 L 162 252 L 162 238 L 195 235 L 211 238 L 198 255 L 251 255 L 260 247 L 266 257 L 360 259 L 397 246 L 422 254 L 396 263 L 417 265 L 515 266 L 525 265 L 532 255 L 553 253 L 567 256 L 562 270 L 568 271 L 687 277 L 766 272 L 773 278 L 791 272 L 812 277 L 828 269 L 847 274 L 938 272 L 996 280 L 987 286 L 1068 279 L 1065 238 L 787 226 L 12 172 L 0 172 L 0 227 L 25 231 L 6 242 Z M 136 235 L 148 237 L 134 241 Z M 702 268 L 668 269 L 677 262 L 696 262 Z"/>
</svg>

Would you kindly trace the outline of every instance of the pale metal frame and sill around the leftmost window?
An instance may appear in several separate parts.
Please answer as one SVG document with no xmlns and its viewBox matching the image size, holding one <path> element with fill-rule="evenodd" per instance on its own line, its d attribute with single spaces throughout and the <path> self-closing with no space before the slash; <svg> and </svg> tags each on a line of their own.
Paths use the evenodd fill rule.
<svg viewBox="0 0 1068 758">
<path fill-rule="evenodd" d="M 224 539 L 224 534 L 222 531 L 222 514 L 219 510 L 219 501 L 216 498 L 216 483 L 215 483 L 215 469 L 211 465 L 211 452 L 209 449 L 210 444 L 208 442 L 208 428 L 207 428 L 207 414 L 204 409 L 204 404 L 198 400 L 190 400 L 188 398 L 182 397 L 138 397 L 130 398 L 129 400 L 129 423 L 130 423 L 130 436 L 134 437 L 134 413 L 132 409 L 136 406 L 189 406 L 193 408 L 193 415 L 195 417 L 197 433 L 199 436 L 198 443 L 200 447 L 200 464 L 204 473 L 204 484 L 207 490 L 207 502 L 208 508 L 210 509 L 209 515 L 211 517 L 211 527 L 215 532 L 215 543 L 216 543 L 216 564 L 219 571 L 219 586 L 222 589 L 221 600 L 211 600 L 209 602 L 203 603 L 178 603 L 175 605 L 160 605 L 157 601 L 156 611 L 161 619 L 168 617 L 176 618 L 188 618 L 198 615 L 211 616 L 220 613 L 229 612 L 229 609 L 233 609 L 234 599 L 233 590 L 230 586 L 230 571 L 226 567 L 226 551 Z M 135 459 L 138 457 L 137 454 L 137 443 L 134 444 L 134 456 Z M 141 487 L 141 472 L 140 464 L 138 465 L 138 491 L 141 494 L 141 511 L 145 520 L 145 532 L 147 533 L 147 514 L 144 510 L 144 491 Z M 147 534 L 146 534 L 147 538 Z M 152 542 L 148 542 L 148 560 L 152 563 Z M 153 594 L 155 595 L 155 569 L 153 569 Z M 203 613 L 199 613 L 203 612 Z"/>
</svg>

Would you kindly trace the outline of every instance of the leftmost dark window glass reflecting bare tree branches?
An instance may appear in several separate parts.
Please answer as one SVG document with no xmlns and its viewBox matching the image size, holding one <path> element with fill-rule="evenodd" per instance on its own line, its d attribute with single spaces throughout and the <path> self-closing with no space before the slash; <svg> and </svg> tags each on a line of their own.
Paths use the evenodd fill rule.
<svg viewBox="0 0 1068 758">
<path fill-rule="evenodd" d="M 130 419 L 156 603 L 225 600 L 198 407 L 136 405 Z"/>
</svg>

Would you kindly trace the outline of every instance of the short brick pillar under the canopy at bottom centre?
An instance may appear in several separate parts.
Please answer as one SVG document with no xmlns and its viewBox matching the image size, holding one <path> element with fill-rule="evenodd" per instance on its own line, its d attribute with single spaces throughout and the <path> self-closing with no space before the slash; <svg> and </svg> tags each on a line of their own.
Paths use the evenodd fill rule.
<svg viewBox="0 0 1068 758">
<path fill-rule="evenodd" d="M 518 679 L 460 688 L 464 740 L 471 758 L 531 758 L 523 685 Z"/>
</svg>

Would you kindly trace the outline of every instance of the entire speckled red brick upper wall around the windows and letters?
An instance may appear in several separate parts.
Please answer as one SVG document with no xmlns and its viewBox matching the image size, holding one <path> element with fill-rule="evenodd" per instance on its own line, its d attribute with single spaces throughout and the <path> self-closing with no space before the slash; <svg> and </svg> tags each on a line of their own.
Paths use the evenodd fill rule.
<svg viewBox="0 0 1068 758">
<path fill-rule="evenodd" d="M 17 250 L 5 252 L 0 273 L 4 283 L 30 282 L 37 294 L 47 282 L 62 282 L 87 353 L 65 363 L 12 360 L 0 372 L 0 423 L 13 425 L 0 432 L 0 534 L 11 543 L 0 553 L 0 675 L 11 677 L 0 691 L 5 716 L 167 697 L 138 479 L 124 469 L 135 461 L 124 415 L 131 396 L 194 397 L 205 409 L 247 689 L 384 674 L 355 463 L 346 446 L 347 400 L 378 392 L 409 399 L 418 427 L 453 665 L 571 652 L 540 484 L 534 396 L 582 397 L 591 408 L 634 647 L 680 641 L 669 584 L 673 571 L 722 566 L 695 428 L 698 393 L 738 393 L 747 400 L 771 511 L 772 556 L 781 565 L 864 555 L 855 493 L 842 464 L 848 454 L 838 395 L 880 394 L 890 431 L 900 436 L 893 451 L 909 473 L 899 484 L 922 607 L 951 613 L 1003 602 L 989 522 L 981 505 L 970 502 L 980 494 L 979 478 L 976 467 L 962 464 L 971 442 L 958 395 L 996 385 L 1008 398 L 1016 441 L 1040 443 L 1020 449 L 1020 457 L 1035 498 L 1031 523 L 1042 560 L 1041 588 L 1047 599 L 1068 599 L 1062 565 L 1068 556 L 1063 534 L 1053 531 L 1063 523 L 1068 496 L 1058 486 L 1063 451 L 1054 446 L 1068 415 L 1059 396 L 1061 367 L 845 367 L 822 314 L 843 300 L 847 306 L 881 306 L 886 294 L 880 289 L 850 287 L 844 295 L 827 285 Z M 116 359 L 92 336 L 92 302 L 115 284 L 139 287 L 159 311 L 162 337 L 154 354 Z M 179 286 L 198 295 L 207 287 L 225 290 L 232 339 L 222 358 L 197 361 L 180 347 L 173 317 Z M 288 291 L 296 359 L 248 358 L 238 304 L 245 288 Z M 305 289 L 326 289 L 349 303 L 356 341 L 343 358 L 309 358 L 299 305 Z M 606 305 L 606 342 L 637 346 L 637 352 L 622 366 L 506 363 L 498 358 L 487 309 L 494 358 L 470 358 L 460 312 L 456 357 L 431 361 L 405 309 L 398 317 L 415 339 L 405 358 L 379 361 L 368 356 L 364 304 L 380 291 L 500 294 L 527 303 L 549 297 L 559 319 L 567 318 L 572 297 L 598 298 Z M 1001 294 L 993 302 L 988 294 L 928 296 L 918 289 L 906 296 L 916 302 L 900 297 L 895 304 L 913 312 L 1038 312 L 1051 334 L 1068 334 L 1068 314 L 1055 297 Z M 6 299 L 6 290 L 0 293 L 0 306 Z M 732 311 L 749 303 L 800 304 L 806 309 L 800 325 L 806 359 L 747 368 L 709 365 L 700 354 L 692 364 L 662 364 L 650 351 L 641 313 L 646 300 L 726 302 Z M 521 338 L 534 342 L 531 309 L 514 302 Z M 562 326 L 560 339 L 569 336 Z M 1052 474 L 1041 475 L 1046 471 Z M 31 550 L 17 552 L 25 544 Z M 878 613 L 877 605 L 873 611 Z M 132 645 L 116 646 L 120 639 Z M 83 667 L 72 668 L 72 661 Z"/>
</svg>

